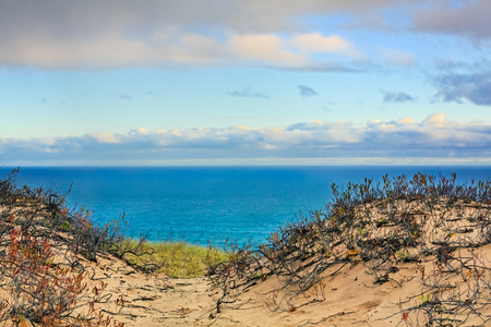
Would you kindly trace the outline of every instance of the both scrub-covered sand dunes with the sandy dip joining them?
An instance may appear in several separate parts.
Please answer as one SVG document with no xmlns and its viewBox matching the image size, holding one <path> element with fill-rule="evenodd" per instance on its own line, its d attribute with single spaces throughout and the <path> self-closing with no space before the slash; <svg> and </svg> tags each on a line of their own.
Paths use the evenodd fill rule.
<svg viewBox="0 0 491 327">
<path fill-rule="evenodd" d="M 454 181 L 333 186 L 325 210 L 191 279 L 131 266 L 83 210 L 3 191 L 0 325 L 491 326 L 490 185 Z"/>
</svg>

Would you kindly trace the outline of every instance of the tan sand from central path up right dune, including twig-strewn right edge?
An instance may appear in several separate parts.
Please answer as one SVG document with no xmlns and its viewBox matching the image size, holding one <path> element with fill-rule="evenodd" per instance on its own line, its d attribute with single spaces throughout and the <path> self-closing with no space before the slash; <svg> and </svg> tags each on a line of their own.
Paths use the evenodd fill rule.
<svg viewBox="0 0 491 327">
<path fill-rule="evenodd" d="M 112 299 L 124 296 L 125 304 L 116 310 L 109 301 L 99 307 L 124 322 L 125 326 L 491 324 L 488 322 L 491 315 L 491 245 L 483 245 L 489 230 L 480 225 L 482 219 L 490 218 L 489 205 L 462 203 L 458 210 L 453 208 L 452 211 L 440 207 L 432 213 L 433 218 L 421 210 L 417 202 L 407 208 L 417 213 L 412 219 L 427 220 L 426 251 L 429 253 L 423 256 L 407 246 L 407 257 L 392 258 L 386 278 L 382 276 L 385 270 L 381 272 L 372 266 L 382 266 L 382 263 L 376 263 L 376 258 L 363 259 L 360 250 L 352 254 L 338 249 L 340 259 L 333 259 L 333 264 L 308 287 L 292 282 L 291 276 L 273 274 L 274 268 L 270 270 L 272 274 L 258 278 L 229 278 L 224 286 L 213 283 L 208 278 L 171 279 L 143 275 L 107 257 L 94 265 L 96 276 L 106 276 L 106 291 Z M 373 207 L 370 210 L 370 219 L 380 219 L 380 213 Z M 440 217 L 445 219 L 440 220 Z M 395 228 L 381 225 L 370 238 L 382 238 Z M 448 247 L 452 250 L 445 263 L 439 251 Z M 297 267 L 313 261 L 297 263 Z M 299 276 L 310 276 L 312 268 L 299 271 Z"/>
</svg>

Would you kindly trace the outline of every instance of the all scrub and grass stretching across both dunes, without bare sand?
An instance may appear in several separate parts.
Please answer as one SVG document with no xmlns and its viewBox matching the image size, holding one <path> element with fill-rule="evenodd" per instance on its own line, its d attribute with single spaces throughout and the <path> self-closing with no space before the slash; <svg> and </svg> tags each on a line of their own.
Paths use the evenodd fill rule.
<svg viewBox="0 0 491 327">
<path fill-rule="evenodd" d="M 122 326 L 95 308 L 112 294 L 87 268 L 110 256 L 171 277 L 207 269 L 221 290 L 216 314 L 233 294 L 268 278 L 283 281 L 270 306 L 294 312 L 324 301 L 325 278 L 342 269 L 363 265 L 374 283 L 404 287 L 408 280 L 398 277 L 399 269 L 416 265 L 419 291 L 395 305 L 392 317 L 399 324 L 491 322 L 491 264 L 482 252 L 491 244 L 489 181 L 458 184 L 455 174 L 417 173 L 385 175 L 376 184 L 366 179 L 342 190 L 333 184 L 333 202 L 323 210 L 286 225 L 258 247 L 227 241 L 221 252 L 128 239 L 124 216 L 94 226 L 85 208 L 67 208 L 63 194 L 16 186 L 16 172 L 0 179 L 0 323 Z M 312 290 L 313 300 L 304 296 Z M 124 299 L 115 303 L 122 306 Z"/>
</svg>

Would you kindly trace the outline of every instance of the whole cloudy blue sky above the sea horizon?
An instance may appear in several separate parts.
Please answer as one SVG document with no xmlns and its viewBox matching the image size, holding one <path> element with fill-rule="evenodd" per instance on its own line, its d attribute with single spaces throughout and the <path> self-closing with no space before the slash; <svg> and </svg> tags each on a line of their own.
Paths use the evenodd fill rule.
<svg viewBox="0 0 491 327">
<path fill-rule="evenodd" d="M 0 0 L 0 162 L 490 166 L 490 16 L 487 0 Z"/>
</svg>

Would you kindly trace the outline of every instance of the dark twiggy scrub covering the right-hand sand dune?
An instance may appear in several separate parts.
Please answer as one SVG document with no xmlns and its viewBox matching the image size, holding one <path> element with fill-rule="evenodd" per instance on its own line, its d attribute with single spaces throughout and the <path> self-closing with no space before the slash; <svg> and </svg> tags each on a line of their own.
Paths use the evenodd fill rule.
<svg viewBox="0 0 491 327">
<path fill-rule="evenodd" d="M 486 326 L 491 322 L 491 183 L 458 184 L 451 178 L 417 173 L 331 185 L 333 203 L 272 233 L 259 249 L 229 245 L 228 259 L 209 268 L 223 303 L 272 276 L 284 282 L 273 310 L 323 301 L 326 277 L 362 264 L 375 283 L 403 287 L 397 271 L 417 265 L 420 291 L 402 299 L 394 315 L 408 326 Z M 314 300 L 302 296 L 308 291 Z M 321 294 L 321 295 L 319 295 Z M 321 322 L 316 322 L 321 323 Z"/>
</svg>

